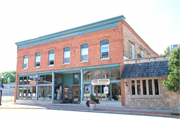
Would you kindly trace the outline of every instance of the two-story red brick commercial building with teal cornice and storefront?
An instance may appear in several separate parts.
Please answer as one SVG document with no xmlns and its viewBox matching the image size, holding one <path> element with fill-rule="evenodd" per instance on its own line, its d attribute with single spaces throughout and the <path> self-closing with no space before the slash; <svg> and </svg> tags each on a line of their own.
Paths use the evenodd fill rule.
<svg viewBox="0 0 180 120">
<path fill-rule="evenodd" d="M 15 102 L 28 104 L 85 105 L 93 93 L 100 100 L 99 106 L 131 107 L 125 86 L 130 71 L 122 73 L 124 61 L 158 56 L 124 16 L 16 45 Z"/>
</svg>

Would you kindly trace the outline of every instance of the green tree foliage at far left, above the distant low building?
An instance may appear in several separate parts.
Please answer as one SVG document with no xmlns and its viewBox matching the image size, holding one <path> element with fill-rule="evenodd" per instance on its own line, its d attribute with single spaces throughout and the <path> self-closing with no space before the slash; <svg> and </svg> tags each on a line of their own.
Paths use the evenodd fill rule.
<svg viewBox="0 0 180 120">
<path fill-rule="evenodd" d="M 3 84 L 8 84 L 11 82 L 15 82 L 15 78 L 16 78 L 16 71 L 7 71 L 7 72 L 3 72 L 4 73 L 4 80 L 3 80 Z M 2 78 L 2 73 L 0 73 L 0 80 Z M 1 82 L 0 82 L 1 84 Z"/>
</svg>

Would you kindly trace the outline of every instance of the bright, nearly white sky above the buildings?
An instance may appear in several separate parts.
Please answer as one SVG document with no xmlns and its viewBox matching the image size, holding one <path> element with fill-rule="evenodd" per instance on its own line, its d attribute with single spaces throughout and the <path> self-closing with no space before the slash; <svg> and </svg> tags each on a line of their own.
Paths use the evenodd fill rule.
<svg viewBox="0 0 180 120">
<path fill-rule="evenodd" d="M 15 42 L 124 15 L 158 54 L 180 43 L 180 0 L 0 0 L 0 72 L 16 70 Z"/>
</svg>

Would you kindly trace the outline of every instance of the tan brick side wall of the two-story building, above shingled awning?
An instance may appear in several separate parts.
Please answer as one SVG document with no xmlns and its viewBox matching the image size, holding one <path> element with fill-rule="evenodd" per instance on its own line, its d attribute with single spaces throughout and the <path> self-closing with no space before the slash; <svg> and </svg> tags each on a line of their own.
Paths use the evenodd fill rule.
<svg viewBox="0 0 180 120">
<path fill-rule="evenodd" d="M 132 45 L 135 47 L 135 58 L 142 57 L 141 50 L 144 53 L 144 57 L 157 56 L 157 53 L 155 53 L 125 21 L 122 27 L 124 56 L 126 58 L 132 59 Z"/>
</svg>

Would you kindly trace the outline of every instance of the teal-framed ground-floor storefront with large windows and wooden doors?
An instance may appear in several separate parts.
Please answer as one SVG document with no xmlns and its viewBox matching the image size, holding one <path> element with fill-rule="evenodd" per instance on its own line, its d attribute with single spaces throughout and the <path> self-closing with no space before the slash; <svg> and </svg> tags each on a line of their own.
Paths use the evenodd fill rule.
<svg viewBox="0 0 180 120">
<path fill-rule="evenodd" d="M 119 66 L 112 64 L 19 74 L 17 101 L 84 104 L 93 93 L 100 101 L 121 102 Z"/>
</svg>

